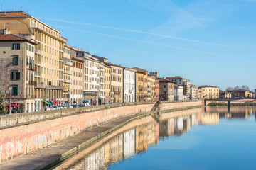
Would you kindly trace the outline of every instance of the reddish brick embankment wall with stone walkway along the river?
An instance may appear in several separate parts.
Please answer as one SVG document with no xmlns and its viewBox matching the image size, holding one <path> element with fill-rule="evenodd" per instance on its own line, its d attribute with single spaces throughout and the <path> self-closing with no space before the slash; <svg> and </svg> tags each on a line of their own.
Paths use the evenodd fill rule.
<svg viewBox="0 0 256 170">
<path fill-rule="evenodd" d="M 133 104 L 122 103 L 122 105 L 108 106 L 108 108 L 100 108 L 102 106 L 98 108 L 97 106 L 95 108 L 87 108 L 93 111 L 80 111 L 78 109 L 73 109 L 69 111 L 70 114 L 63 113 L 64 115 L 58 115 L 55 117 L 54 113 L 47 113 L 50 114 L 48 117 L 52 116 L 52 118 L 46 118 L 46 115 L 44 115 L 43 117 L 46 119 L 41 117 L 41 120 L 33 120 L 31 123 L 23 122 L 14 125 L 2 126 L 0 130 L 1 141 L 6 141 L 3 137 L 8 136 L 9 143 L 6 142 L 6 145 L 1 143 L 0 149 L 2 164 L 0 165 L 0 169 L 29 169 L 28 167 L 30 166 L 31 169 L 41 169 L 47 165 L 55 164 L 55 162 L 62 162 L 64 159 L 67 159 L 73 154 L 79 152 L 80 149 L 88 147 L 92 145 L 93 142 L 101 140 L 102 137 L 109 135 L 111 132 L 122 127 L 122 125 L 131 122 L 133 119 L 140 118 L 141 116 L 157 114 L 159 111 L 176 111 L 177 109 L 200 106 L 202 106 L 201 101 Z M 4 118 L 6 117 L 1 117 L 1 121 L 4 120 Z M 97 118 L 97 121 L 92 121 L 95 120 L 94 118 Z M 11 122 L 14 123 L 14 121 Z M 79 127 L 75 126 L 78 124 L 80 125 Z M 81 127 L 82 125 L 84 126 Z M 16 130 L 16 128 L 18 128 L 19 131 L 13 131 Z M 73 133 L 69 132 L 69 135 L 65 136 L 66 133 L 64 132 L 71 131 L 74 128 L 78 129 L 73 131 Z M 6 131 L 9 131 L 9 133 L 6 133 Z M 31 133 L 31 131 L 33 131 L 33 133 Z M 59 132 L 59 134 L 57 132 Z M 13 136 L 14 134 L 19 135 Z M 33 139 L 32 142 L 34 143 L 32 146 L 38 146 L 38 148 L 33 149 L 31 145 L 28 145 L 28 137 L 24 137 L 26 134 Z M 41 136 L 38 134 L 41 134 Z M 62 139 L 60 137 L 58 140 L 54 140 L 61 135 L 63 135 Z M 19 136 L 19 138 L 17 136 Z M 44 141 L 43 137 L 46 137 L 47 141 Z M 21 144 L 21 142 L 23 142 L 23 145 L 17 145 Z M 8 146 L 11 147 L 8 148 Z M 17 154 L 18 149 L 21 149 L 21 152 Z M 24 153 L 24 150 L 22 149 L 26 149 L 26 152 Z M 9 154 L 11 157 L 6 157 L 6 154 Z M 4 160 L 4 158 L 7 159 Z"/>
</svg>

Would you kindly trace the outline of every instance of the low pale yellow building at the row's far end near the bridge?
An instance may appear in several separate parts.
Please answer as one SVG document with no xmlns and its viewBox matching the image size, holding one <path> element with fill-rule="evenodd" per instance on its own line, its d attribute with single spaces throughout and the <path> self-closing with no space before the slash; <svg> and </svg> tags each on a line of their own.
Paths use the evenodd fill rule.
<svg viewBox="0 0 256 170">
<path fill-rule="evenodd" d="M 200 86 L 198 89 L 202 90 L 203 98 L 219 98 L 219 88 L 216 86 Z"/>
</svg>

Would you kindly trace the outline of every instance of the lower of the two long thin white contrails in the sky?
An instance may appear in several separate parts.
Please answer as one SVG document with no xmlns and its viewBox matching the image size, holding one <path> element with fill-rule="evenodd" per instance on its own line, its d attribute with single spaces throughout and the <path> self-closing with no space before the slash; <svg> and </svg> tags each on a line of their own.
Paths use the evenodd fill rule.
<svg viewBox="0 0 256 170">
<path fill-rule="evenodd" d="M 54 25 L 52 25 L 52 26 L 54 26 Z M 91 34 L 95 34 L 95 35 L 102 35 L 102 36 L 110 37 L 110 38 L 118 38 L 118 39 L 122 39 L 122 40 L 130 40 L 130 41 L 135 41 L 135 42 L 142 42 L 142 43 L 146 43 L 146 44 L 150 44 L 150 45 L 158 45 L 158 46 L 162 46 L 162 47 L 171 47 L 171 48 L 178 49 L 178 50 L 186 50 L 186 51 L 191 51 L 191 52 L 199 52 L 199 53 L 206 54 L 206 55 L 214 55 L 214 56 L 218 56 L 218 57 L 227 57 L 227 58 L 232 58 L 232 59 L 238 59 L 238 60 L 246 61 L 246 60 L 244 60 L 242 58 L 239 58 L 239 57 L 231 57 L 231 56 L 228 56 L 228 55 L 219 55 L 219 54 L 215 54 L 215 53 L 211 53 L 211 52 L 203 52 L 203 51 L 192 50 L 192 49 L 183 48 L 183 47 L 176 47 L 176 46 L 172 46 L 172 45 L 164 45 L 164 44 L 155 43 L 155 42 L 149 42 L 149 41 L 145 41 L 145 40 L 136 40 L 136 39 L 132 39 L 132 38 L 124 38 L 124 37 L 120 37 L 120 36 L 116 36 L 116 35 L 96 33 L 96 32 L 92 32 L 92 31 L 88 31 L 88 30 L 81 30 L 81 29 L 70 28 L 70 27 L 65 27 L 65 26 L 56 26 L 55 25 L 55 27 L 68 28 L 70 30 L 77 30 L 77 31 L 81 31 L 81 32 L 84 32 L 84 33 L 91 33 Z"/>
</svg>

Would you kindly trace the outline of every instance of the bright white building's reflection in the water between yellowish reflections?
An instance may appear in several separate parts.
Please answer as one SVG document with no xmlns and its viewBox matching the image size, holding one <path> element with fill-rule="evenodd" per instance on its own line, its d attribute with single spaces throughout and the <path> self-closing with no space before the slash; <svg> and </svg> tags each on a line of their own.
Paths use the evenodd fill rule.
<svg viewBox="0 0 256 170">
<path fill-rule="evenodd" d="M 124 132 L 124 158 L 135 153 L 135 129 Z"/>
</svg>

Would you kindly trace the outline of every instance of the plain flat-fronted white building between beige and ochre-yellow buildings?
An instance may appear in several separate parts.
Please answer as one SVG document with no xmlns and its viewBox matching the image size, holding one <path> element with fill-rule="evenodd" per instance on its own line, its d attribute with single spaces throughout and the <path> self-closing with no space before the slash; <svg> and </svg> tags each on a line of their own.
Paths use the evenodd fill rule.
<svg viewBox="0 0 256 170">
<path fill-rule="evenodd" d="M 135 102 L 135 69 L 124 67 L 123 102 Z"/>
</svg>

